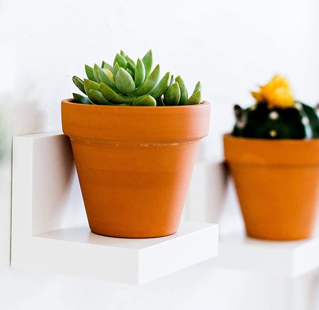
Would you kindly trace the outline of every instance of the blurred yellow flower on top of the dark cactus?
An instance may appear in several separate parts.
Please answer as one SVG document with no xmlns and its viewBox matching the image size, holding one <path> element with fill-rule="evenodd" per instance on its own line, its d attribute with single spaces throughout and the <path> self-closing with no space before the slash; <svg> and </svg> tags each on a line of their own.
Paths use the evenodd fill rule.
<svg viewBox="0 0 319 310">
<path fill-rule="evenodd" d="M 259 86 L 259 92 L 251 92 L 257 102 L 266 102 L 269 109 L 294 106 L 293 95 L 288 80 L 275 75 L 268 84 Z"/>
</svg>

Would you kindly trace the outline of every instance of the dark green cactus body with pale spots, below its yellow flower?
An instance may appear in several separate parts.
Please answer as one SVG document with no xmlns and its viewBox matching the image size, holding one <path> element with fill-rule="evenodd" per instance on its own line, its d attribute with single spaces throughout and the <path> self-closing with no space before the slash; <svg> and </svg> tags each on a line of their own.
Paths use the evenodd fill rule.
<svg viewBox="0 0 319 310">
<path fill-rule="evenodd" d="M 245 110 L 235 105 L 233 135 L 260 139 L 319 138 L 317 108 L 298 101 L 288 108 L 270 109 L 266 102 L 258 102 Z"/>
</svg>

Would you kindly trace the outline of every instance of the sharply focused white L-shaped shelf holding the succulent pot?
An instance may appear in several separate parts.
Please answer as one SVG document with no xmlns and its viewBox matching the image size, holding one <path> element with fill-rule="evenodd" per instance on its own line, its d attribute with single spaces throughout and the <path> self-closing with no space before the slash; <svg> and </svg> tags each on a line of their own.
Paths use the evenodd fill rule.
<svg viewBox="0 0 319 310">
<path fill-rule="evenodd" d="M 12 168 L 12 268 L 142 284 L 218 253 L 216 224 L 150 239 L 92 233 L 63 134 L 14 137 Z"/>
</svg>

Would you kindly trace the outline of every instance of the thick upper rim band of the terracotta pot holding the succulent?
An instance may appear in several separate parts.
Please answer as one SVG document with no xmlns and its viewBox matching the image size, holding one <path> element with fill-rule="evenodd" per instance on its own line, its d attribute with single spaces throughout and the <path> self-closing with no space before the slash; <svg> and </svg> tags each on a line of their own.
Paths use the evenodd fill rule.
<svg viewBox="0 0 319 310">
<path fill-rule="evenodd" d="M 210 103 L 189 106 L 145 107 L 61 103 L 62 130 L 71 139 L 175 143 L 208 134 Z"/>
</svg>

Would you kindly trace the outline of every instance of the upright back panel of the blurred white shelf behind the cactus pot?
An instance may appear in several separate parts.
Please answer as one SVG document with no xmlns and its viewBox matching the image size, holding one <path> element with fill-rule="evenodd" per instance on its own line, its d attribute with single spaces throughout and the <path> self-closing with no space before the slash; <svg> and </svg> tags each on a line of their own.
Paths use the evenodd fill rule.
<svg viewBox="0 0 319 310">
<path fill-rule="evenodd" d="M 244 232 L 233 180 L 223 161 L 195 163 L 183 219 L 219 224 L 219 235 Z"/>
</svg>

